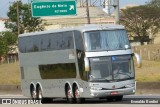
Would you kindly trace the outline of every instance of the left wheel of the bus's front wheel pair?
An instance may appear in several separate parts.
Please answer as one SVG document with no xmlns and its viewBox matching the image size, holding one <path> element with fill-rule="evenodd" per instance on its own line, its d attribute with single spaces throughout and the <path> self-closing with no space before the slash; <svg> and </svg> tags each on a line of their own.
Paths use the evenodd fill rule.
<svg viewBox="0 0 160 107">
<path fill-rule="evenodd" d="M 69 85 L 66 87 L 66 98 L 68 103 L 74 103 L 74 98 L 72 97 L 72 90 Z"/>
</svg>

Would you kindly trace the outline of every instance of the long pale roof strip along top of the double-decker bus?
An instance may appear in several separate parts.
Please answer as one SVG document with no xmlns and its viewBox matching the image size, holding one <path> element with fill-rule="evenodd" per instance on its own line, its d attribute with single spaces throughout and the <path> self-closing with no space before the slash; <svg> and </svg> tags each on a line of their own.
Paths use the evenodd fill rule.
<svg viewBox="0 0 160 107">
<path fill-rule="evenodd" d="M 93 30 L 113 30 L 113 29 L 124 29 L 124 26 L 115 25 L 115 24 L 87 24 L 87 25 L 80 26 L 80 27 L 62 28 L 62 29 L 56 29 L 56 30 L 54 29 L 54 30 L 45 30 L 45 31 L 40 31 L 40 32 L 24 33 L 24 34 L 20 34 L 19 37 L 50 34 L 50 33 L 73 31 L 73 30 L 79 30 L 81 32 L 86 32 L 86 31 L 93 31 Z"/>
</svg>

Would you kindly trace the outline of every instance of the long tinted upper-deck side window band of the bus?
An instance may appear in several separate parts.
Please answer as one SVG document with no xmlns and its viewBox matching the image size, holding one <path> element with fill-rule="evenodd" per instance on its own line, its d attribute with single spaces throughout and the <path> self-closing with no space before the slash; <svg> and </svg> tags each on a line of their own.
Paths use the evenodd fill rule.
<svg viewBox="0 0 160 107">
<path fill-rule="evenodd" d="M 19 38 L 19 50 L 22 53 L 73 49 L 72 32 L 35 35 Z"/>
</svg>

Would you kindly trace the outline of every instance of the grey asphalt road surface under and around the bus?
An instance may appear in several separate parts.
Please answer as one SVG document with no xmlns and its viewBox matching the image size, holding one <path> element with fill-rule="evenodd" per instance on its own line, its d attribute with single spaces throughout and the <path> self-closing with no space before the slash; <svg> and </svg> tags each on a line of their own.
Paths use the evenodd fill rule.
<svg viewBox="0 0 160 107">
<path fill-rule="evenodd" d="M 0 95 L 0 99 L 26 99 L 22 95 Z M 12 99 L 12 100 L 13 100 Z M 66 99 L 53 99 L 43 105 L 28 105 L 29 107 L 42 107 L 42 106 L 56 106 L 56 107 L 160 107 L 160 95 L 130 95 L 124 96 L 122 101 L 107 101 L 106 99 L 86 99 L 83 104 L 68 104 Z M 0 105 L 1 106 L 1 105 Z M 4 106 L 4 104 L 3 104 Z M 6 105 L 10 106 L 11 105 Z M 14 105 L 12 105 L 13 107 Z M 22 106 L 22 105 L 21 105 Z M 27 106 L 27 107 L 28 107 Z M 16 105 L 16 107 L 18 107 Z M 53 107 L 53 106 L 52 106 Z"/>
</svg>

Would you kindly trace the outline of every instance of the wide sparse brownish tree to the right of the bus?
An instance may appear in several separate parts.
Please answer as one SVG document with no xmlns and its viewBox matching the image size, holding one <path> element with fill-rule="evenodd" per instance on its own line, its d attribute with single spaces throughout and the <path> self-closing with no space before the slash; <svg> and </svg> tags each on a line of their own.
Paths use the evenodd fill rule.
<svg viewBox="0 0 160 107">
<path fill-rule="evenodd" d="M 121 10 L 120 23 L 125 25 L 143 45 L 147 36 L 156 34 L 160 28 L 160 9 L 148 5 Z"/>
</svg>

